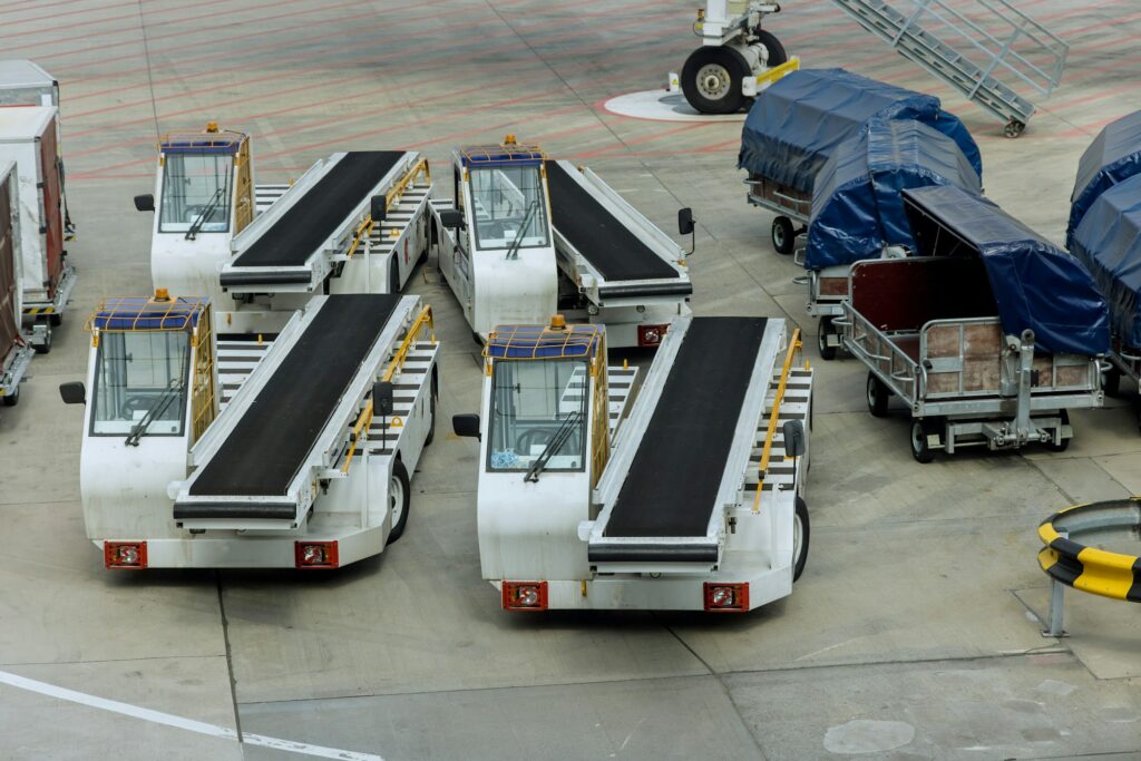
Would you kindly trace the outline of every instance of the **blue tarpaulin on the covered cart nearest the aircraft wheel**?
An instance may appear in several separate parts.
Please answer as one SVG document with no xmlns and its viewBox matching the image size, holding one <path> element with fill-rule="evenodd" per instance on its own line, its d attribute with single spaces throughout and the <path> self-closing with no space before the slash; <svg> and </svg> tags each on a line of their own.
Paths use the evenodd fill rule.
<svg viewBox="0 0 1141 761">
<path fill-rule="evenodd" d="M 745 118 L 738 169 L 802 193 L 832 152 L 873 116 L 914 119 L 948 136 L 982 175 L 979 148 L 939 98 L 877 82 L 843 68 L 802 68 L 764 90 Z"/>
</svg>

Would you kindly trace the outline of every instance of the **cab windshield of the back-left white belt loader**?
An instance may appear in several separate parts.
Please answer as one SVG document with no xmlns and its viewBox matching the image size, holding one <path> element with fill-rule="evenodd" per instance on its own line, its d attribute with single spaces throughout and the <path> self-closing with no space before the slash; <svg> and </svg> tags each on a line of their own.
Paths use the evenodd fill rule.
<svg viewBox="0 0 1141 761">
<path fill-rule="evenodd" d="M 159 232 L 229 232 L 232 155 L 167 154 Z"/>
</svg>

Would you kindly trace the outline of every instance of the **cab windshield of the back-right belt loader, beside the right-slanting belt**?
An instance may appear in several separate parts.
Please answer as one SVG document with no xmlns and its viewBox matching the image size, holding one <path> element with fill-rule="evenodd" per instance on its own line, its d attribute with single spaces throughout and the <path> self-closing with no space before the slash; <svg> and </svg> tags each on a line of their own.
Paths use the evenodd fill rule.
<svg viewBox="0 0 1141 761">
<path fill-rule="evenodd" d="M 539 167 L 471 170 L 476 245 L 484 250 L 550 245 L 547 195 Z"/>
</svg>

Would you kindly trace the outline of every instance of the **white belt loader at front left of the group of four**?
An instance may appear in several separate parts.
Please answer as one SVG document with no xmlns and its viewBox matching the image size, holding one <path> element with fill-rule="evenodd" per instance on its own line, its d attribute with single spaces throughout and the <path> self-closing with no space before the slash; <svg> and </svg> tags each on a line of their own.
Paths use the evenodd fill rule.
<svg viewBox="0 0 1141 761">
<path fill-rule="evenodd" d="M 86 403 L 83 517 L 107 568 L 337 568 L 404 531 L 438 389 L 418 297 L 315 296 L 272 340 L 162 291 L 88 326 L 87 383 L 60 395 Z"/>
</svg>

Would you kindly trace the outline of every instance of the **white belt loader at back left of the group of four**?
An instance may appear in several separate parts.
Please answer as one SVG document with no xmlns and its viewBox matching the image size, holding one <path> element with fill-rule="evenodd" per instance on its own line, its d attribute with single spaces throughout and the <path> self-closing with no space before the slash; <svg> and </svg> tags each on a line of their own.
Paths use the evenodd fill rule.
<svg viewBox="0 0 1141 761">
<path fill-rule="evenodd" d="M 209 123 L 159 144 L 151 272 L 208 297 L 227 331 L 276 330 L 316 293 L 397 293 L 428 249 L 428 161 L 337 153 L 291 185 L 256 186 L 250 138 Z M 159 200 L 157 208 L 155 199 Z"/>
</svg>

